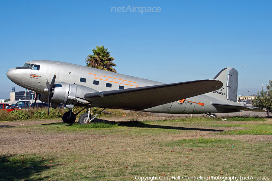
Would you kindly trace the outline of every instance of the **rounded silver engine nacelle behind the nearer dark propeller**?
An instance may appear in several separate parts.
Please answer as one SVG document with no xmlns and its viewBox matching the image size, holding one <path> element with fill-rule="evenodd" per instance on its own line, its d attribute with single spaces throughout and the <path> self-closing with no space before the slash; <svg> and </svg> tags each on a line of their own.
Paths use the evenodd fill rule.
<svg viewBox="0 0 272 181">
<path fill-rule="evenodd" d="M 65 103 L 66 107 L 69 104 L 87 104 L 89 102 L 85 100 L 83 96 L 87 93 L 92 92 L 98 91 L 83 85 L 69 84 L 66 82 L 56 82 L 53 89 L 52 100 L 55 102 Z"/>
</svg>

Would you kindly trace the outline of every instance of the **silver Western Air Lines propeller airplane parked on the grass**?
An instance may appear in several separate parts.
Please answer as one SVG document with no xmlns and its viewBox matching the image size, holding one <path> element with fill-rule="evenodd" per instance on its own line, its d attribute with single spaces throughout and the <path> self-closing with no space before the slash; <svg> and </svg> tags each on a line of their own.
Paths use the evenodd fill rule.
<svg viewBox="0 0 272 181">
<path fill-rule="evenodd" d="M 34 60 L 8 70 L 7 77 L 41 94 L 40 101 L 50 102 L 53 108 L 65 103 L 70 109 L 63 114 L 66 123 L 74 122 L 76 115 L 90 106 L 157 113 L 206 113 L 209 116 L 240 110 L 264 111 L 236 103 L 238 72 L 234 68 L 220 71 L 214 78 L 217 80 L 164 84 L 81 65 Z M 74 106 L 86 108 L 74 114 Z M 91 122 L 98 114 L 90 115 L 89 109 L 79 117 L 79 124 Z"/>
</svg>

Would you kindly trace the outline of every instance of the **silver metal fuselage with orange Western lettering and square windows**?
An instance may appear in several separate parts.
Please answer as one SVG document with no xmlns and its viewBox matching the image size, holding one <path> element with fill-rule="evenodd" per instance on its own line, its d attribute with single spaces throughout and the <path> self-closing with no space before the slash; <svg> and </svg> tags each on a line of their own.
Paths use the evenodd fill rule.
<svg viewBox="0 0 272 181">
<path fill-rule="evenodd" d="M 48 92 L 44 89 L 47 88 L 48 82 L 51 82 L 54 75 L 56 75 L 56 82 L 82 85 L 98 92 L 118 90 L 120 87 L 121 89 L 128 89 L 164 84 L 157 81 L 65 62 L 34 60 L 26 63 L 39 65 L 39 70 L 30 68 L 12 68 L 7 72 L 8 78 L 21 87 L 46 95 L 48 95 Z M 223 80 L 222 82 L 224 85 L 221 90 L 219 89 L 207 94 L 187 98 L 186 100 L 177 100 L 176 102 L 155 106 L 142 111 L 179 114 L 236 112 L 233 110 L 215 109 L 212 105 L 212 103 L 241 105 L 226 99 L 226 81 Z"/>
</svg>

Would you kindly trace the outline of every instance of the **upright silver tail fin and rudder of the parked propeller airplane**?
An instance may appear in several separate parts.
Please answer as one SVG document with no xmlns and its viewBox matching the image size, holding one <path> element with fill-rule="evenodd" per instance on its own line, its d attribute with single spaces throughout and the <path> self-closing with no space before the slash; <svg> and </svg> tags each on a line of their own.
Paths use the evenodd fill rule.
<svg viewBox="0 0 272 181">
<path fill-rule="evenodd" d="M 236 102 L 238 89 L 238 71 L 235 68 L 224 68 L 213 78 L 223 82 L 221 89 L 207 93 L 210 96 Z"/>
</svg>

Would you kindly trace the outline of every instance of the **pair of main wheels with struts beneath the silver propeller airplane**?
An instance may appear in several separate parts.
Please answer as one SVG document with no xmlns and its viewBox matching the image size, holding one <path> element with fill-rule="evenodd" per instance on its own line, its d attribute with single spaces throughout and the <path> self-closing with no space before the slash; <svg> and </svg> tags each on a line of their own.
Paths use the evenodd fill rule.
<svg viewBox="0 0 272 181">
<path fill-rule="evenodd" d="M 90 124 L 93 122 L 93 120 L 98 116 L 102 111 L 104 111 L 106 108 L 104 108 L 102 111 L 97 113 L 96 115 L 92 116 L 91 115 L 91 108 L 89 106 L 86 106 L 86 108 L 80 110 L 78 113 L 74 114 L 72 110 L 66 112 L 62 116 L 62 121 L 65 123 L 73 124 L 76 121 L 76 116 L 83 110 L 88 110 L 87 113 L 83 113 L 81 116 L 79 116 L 78 122 L 80 125 L 84 124 Z"/>
</svg>

